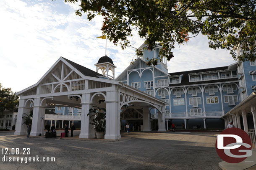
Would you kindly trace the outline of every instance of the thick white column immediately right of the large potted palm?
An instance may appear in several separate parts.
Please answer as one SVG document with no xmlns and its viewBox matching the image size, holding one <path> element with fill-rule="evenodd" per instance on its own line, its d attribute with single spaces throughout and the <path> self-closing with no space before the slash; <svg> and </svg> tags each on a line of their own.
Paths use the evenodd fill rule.
<svg viewBox="0 0 256 170">
<path fill-rule="evenodd" d="M 107 91 L 105 139 L 118 139 L 118 91 Z"/>
</svg>

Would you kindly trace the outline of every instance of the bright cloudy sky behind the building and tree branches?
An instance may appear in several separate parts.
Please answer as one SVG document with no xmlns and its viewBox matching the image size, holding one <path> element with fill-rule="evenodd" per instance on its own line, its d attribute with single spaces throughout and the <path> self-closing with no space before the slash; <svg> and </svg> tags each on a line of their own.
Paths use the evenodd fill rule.
<svg viewBox="0 0 256 170">
<path fill-rule="evenodd" d="M 79 4 L 64 0 L 0 1 L 0 83 L 14 92 L 36 84 L 60 56 L 96 71 L 95 63 L 105 55 L 105 40 L 100 30 L 102 17 L 87 20 L 75 14 Z M 144 42 L 136 32 L 131 45 Z M 188 71 L 235 63 L 229 51 L 211 49 L 199 35 L 173 50 L 168 72 Z M 117 77 L 135 56 L 134 48 L 122 50 L 107 41 L 107 56 L 112 58 Z"/>
</svg>

